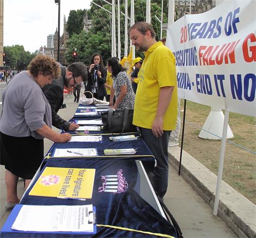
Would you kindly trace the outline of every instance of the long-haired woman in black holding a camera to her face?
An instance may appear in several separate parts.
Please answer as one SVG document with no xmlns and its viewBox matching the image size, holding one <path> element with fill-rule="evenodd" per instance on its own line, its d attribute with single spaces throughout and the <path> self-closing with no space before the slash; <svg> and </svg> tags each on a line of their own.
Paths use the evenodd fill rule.
<svg viewBox="0 0 256 238">
<path fill-rule="evenodd" d="M 106 97 L 106 89 L 104 83 L 106 82 L 106 69 L 103 64 L 102 56 L 99 53 L 92 55 L 90 66 L 88 67 L 88 83 L 86 91 L 91 91 L 93 97 L 103 100 Z M 84 93 L 87 98 L 91 98 L 91 93 Z"/>
</svg>

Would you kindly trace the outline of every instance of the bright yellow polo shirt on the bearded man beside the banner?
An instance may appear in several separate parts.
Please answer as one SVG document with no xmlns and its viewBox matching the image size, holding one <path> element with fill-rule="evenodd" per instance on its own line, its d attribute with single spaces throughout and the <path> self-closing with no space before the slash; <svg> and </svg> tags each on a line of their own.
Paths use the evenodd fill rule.
<svg viewBox="0 0 256 238">
<path fill-rule="evenodd" d="M 136 92 L 133 124 L 152 129 L 158 107 L 161 87 L 174 86 L 173 97 L 164 115 L 163 130 L 176 128 L 178 91 L 175 57 L 161 41 L 153 44 L 145 53 L 140 68 Z"/>
</svg>

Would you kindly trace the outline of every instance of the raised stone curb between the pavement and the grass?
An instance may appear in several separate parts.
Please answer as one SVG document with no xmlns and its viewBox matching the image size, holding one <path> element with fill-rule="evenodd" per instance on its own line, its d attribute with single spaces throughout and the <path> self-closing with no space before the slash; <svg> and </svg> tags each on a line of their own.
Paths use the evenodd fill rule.
<svg viewBox="0 0 256 238">
<path fill-rule="evenodd" d="M 169 163 L 179 170 L 180 147 L 168 148 Z M 181 176 L 214 207 L 217 176 L 183 150 Z M 222 181 L 218 216 L 239 237 L 256 237 L 256 205 Z"/>
</svg>

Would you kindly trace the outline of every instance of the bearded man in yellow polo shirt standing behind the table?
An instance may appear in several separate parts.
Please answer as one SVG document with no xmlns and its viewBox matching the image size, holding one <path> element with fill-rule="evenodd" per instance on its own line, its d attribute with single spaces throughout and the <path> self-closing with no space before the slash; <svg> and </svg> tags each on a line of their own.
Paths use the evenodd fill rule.
<svg viewBox="0 0 256 238">
<path fill-rule="evenodd" d="M 177 78 L 175 57 L 149 23 L 137 22 L 130 29 L 135 49 L 145 58 L 138 75 L 133 124 L 153 152 L 157 166 L 150 174 L 155 192 L 163 199 L 168 185 L 168 139 L 177 121 Z"/>
</svg>

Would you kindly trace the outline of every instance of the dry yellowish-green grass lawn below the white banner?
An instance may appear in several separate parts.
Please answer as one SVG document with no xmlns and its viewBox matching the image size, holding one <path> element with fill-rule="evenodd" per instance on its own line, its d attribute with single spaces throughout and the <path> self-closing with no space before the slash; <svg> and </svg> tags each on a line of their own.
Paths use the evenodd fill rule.
<svg viewBox="0 0 256 238">
<path fill-rule="evenodd" d="M 181 110 L 184 100 L 181 100 Z M 203 127 L 210 107 L 198 103 L 186 102 L 186 121 Z M 181 112 L 183 121 L 183 112 Z M 221 140 L 199 138 L 200 129 L 185 123 L 183 150 L 204 164 L 211 172 L 218 174 Z M 256 151 L 256 119 L 238 113 L 229 113 L 229 126 L 234 134 L 230 141 Z M 180 132 L 180 144 L 182 123 Z M 239 193 L 256 204 L 256 155 L 227 141 L 222 179 Z"/>
</svg>

